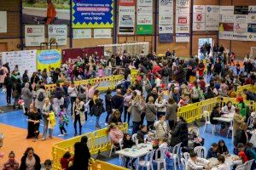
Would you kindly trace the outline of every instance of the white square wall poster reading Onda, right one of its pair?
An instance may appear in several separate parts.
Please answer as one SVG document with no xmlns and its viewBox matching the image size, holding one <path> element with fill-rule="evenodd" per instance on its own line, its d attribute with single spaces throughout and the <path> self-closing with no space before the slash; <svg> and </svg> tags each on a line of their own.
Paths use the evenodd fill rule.
<svg viewBox="0 0 256 170">
<path fill-rule="evenodd" d="M 55 41 L 58 45 L 67 45 L 67 25 L 49 25 L 48 41 Z"/>
</svg>

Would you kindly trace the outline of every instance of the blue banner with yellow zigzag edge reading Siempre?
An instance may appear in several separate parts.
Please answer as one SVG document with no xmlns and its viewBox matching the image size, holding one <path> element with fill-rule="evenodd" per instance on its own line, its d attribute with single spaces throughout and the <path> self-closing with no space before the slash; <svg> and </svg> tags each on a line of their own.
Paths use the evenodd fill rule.
<svg viewBox="0 0 256 170">
<path fill-rule="evenodd" d="M 113 0 L 72 0 L 73 28 L 113 28 Z"/>
</svg>

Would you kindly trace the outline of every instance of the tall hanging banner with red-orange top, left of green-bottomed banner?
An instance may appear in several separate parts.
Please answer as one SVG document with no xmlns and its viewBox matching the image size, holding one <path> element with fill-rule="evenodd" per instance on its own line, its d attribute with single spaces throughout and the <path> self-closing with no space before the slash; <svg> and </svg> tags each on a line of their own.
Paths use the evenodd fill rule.
<svg viewBox="0 0 256 170">
<path fill-rule="evenodd" d="M 135 28 L 135 1 L 119 0 L 119 35 L 133 35 Z"/>
</svg>

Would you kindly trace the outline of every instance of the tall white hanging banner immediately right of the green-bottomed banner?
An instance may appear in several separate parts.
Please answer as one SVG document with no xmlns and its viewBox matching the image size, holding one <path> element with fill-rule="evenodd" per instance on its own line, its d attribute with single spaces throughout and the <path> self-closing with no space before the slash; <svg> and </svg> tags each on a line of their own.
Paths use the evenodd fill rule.
<svg viewBox="0 0 256 170">
<path fill-rule="evenodd" d="M 159 1 L 159 33 L 173 33 L 173 0 Z"/>
</svg>

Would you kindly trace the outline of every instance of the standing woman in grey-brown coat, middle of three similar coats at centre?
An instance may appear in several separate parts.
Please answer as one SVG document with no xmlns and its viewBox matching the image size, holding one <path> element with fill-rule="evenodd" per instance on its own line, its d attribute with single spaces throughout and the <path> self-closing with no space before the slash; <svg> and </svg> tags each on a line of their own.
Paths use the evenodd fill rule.
<svg viewBox="0 0 256 170">
<path fill-rule="evenodd" d="M 148 129 L 154 125 L 154 120 L 156 118 L 156 108 L 154 105 L 154 98 L 150 96 L 148 98 L 148 103 L 145 105 L 145 112 L 146 112 L 146 120 L 147 120 L 147 127 Z"/>
</svg>

